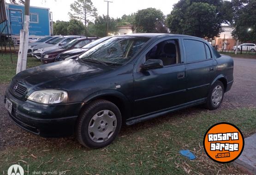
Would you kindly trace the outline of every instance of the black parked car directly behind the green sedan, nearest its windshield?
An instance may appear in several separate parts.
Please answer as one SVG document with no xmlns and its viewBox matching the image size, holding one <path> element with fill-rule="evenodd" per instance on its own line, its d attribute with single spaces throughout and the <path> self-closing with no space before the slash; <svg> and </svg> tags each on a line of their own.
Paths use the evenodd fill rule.
<svg viewBox="0 0 256 175">
<path fill-rule="evenodd" d="M 109 38 L 110 37 L 107 36 L 107 37 L 95 40 L 88 45 L 84 45 L 82 48 L 64 51 L 64 52 L 60 53 L 58 56 L 56 56 L 54 62 L 59 62 L 59 61 L 63 61 L 66 59 L 75 59 L 77 56 L 79 56 L 83 52 L 88 51 L 89 49 L 93 48 L 95 45 L 98 45 L 101 42 L 108 40 Z"/>
</svg>

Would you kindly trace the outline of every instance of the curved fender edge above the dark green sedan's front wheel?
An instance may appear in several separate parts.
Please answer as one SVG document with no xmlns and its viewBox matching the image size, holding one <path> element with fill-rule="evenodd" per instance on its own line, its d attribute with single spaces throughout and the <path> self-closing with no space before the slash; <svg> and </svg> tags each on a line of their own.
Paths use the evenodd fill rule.
<svg viewBox="0 0 256 175">
<path fill-rule="evenodd" d="M 128 98 L 118 90 L 100 90 L 90 94 L 89 96 L 84 98 L 83 106 L 81 107 L 80 111 L 82 111 L 84 107 L 89 105 L 90 102 L 99 99 L 107 100 L 115 104 L 120 110 L 123 123 L 125 123 L 126 119 L 131 117 L 131 103 Z"/>
</svg>

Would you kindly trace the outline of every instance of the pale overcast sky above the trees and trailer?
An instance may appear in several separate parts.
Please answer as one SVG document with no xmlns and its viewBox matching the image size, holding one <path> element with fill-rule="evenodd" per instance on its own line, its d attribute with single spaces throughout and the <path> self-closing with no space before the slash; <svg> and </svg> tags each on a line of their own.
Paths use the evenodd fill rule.
<svg viewBox="0 0 256 175">
<path fill-rule="evenodd" d="M 8 2 L 9 0 L 6 0 Z M 98 10 L 98 15 L 107 15 L 107 2 L 104 0 L 91 0 L 93 5 Z M 109 16 L 122 17 L 124 14 L 128 15 L 137 12 L 140 9 L 153 7 L 160 9 L 164 15 L 169 14 L 173 9 L 173 4 L 179 0 L 113 0 L 109 3 Z M 69 21 L 68 12 L 70 11 L 70 4 L 74 0 L 30 0 L 30 6 L 39 6 L 50 8 L 53 12 L 53 20 Z"/>
</svg>

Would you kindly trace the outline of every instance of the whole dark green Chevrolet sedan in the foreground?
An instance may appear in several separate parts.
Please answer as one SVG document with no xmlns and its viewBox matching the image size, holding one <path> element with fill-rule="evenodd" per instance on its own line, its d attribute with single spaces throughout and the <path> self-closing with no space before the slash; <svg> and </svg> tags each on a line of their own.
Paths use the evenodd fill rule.
<svg viewBox="0 0 256 175">
<path fill-rule="evenodd" d="M 177 34 L 112 37 L 79 58 L 30 68 L 6 90 L 10 117 L 45 137 L 73 135 L 105 147 L 121 124 L 205 104 L 220 106 L 233 83 L 233 60 L 207 41 Z"/>
</svg>

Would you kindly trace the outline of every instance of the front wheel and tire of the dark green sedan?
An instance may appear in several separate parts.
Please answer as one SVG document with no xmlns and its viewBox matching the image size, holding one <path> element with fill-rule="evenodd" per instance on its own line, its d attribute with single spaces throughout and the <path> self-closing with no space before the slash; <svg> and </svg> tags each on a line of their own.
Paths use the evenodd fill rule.
<svg viewBox="0 0 256 175">
<path fill-rule="evenodd" d="M 122 117 L 119 108 L 107 100 L 95 100 L 78 117 L 76 136 L 89 148 L 106 147 L 118 136 Z"/>
</svg>

